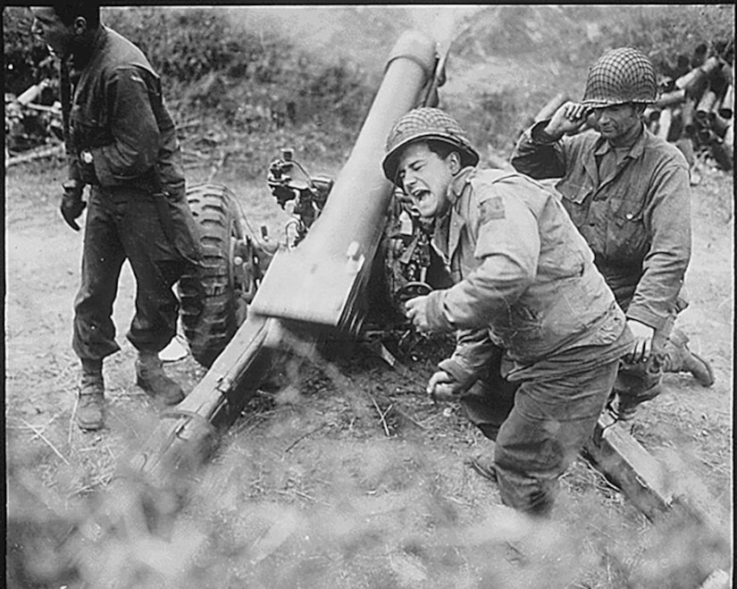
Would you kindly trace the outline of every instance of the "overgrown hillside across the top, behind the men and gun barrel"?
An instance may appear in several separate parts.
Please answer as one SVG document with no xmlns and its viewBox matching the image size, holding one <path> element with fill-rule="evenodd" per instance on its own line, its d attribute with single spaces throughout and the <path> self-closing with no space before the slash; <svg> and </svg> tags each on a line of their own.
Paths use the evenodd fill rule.
<svg viewBox="0 0 737 589">
<path fill-rule="evenodd" d="M 507 156 L 519 131 L 560 91 L 580 97 L 590 63 L 633 45 L 658 68 L 701 43 L 733 40 L 733 4 L 339 5 L 105 8 L 164 79 L 191 137 L 236 144 L 260 176 L 279 147 L 342 162 L 406 29 L 453 38 L 441 105 L 482 152 Z M 8 87 L 48 74 L 29 12 L 4 10 Z M 37 80 L 38 81 L 38 80 Z M 234 141 L 233 138 L 239 138 Z M 198 137 L 199 139 L 199 137 Z M 243 147 L 241 147 L 241 144 Z"/>
</svg>

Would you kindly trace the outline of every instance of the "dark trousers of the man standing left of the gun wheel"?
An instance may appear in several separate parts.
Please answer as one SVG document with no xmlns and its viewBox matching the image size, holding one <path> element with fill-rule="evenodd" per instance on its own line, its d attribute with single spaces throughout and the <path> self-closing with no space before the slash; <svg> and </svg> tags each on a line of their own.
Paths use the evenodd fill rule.
<svg viewBox="0 0 737 589">
<path fill-rule="evenodd" d="M 166 237 L 154 198 L 140 189 L 91 189 L 72 335 L 72 349 L 83 360 L 120 349 L 113 303 L 126 260 L 136 279 L 130 343 L 158 352 L 176 334 L 179 300 L 172 287 L 192 263 Z"/>
</svg>

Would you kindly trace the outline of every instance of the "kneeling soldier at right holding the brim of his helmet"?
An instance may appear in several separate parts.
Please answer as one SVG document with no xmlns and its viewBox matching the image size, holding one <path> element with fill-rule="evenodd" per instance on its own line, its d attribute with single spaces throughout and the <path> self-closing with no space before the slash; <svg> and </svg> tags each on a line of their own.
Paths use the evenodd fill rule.
<svg viewBox="0 0 737 589">
<path fill-rule="evenodd" d="M 691 372 L 703 386 L 714 383 L 711 366 L 673 328 L 687 305 L 691 189 L 683 154 L 641 121 L 656 97 L 645 55 L 630 47 L 609 51 L 590 68 L 581 104 L 567 102 L 526 130 L 512 156 L 518 172 L 560 178 L 563 206 L 626 313 L 635 342 L 615 385 L 622 419 L 661 392 L 663 372 Z M 566 136 L 591 112 L 598 133 Z"/>
</svg>

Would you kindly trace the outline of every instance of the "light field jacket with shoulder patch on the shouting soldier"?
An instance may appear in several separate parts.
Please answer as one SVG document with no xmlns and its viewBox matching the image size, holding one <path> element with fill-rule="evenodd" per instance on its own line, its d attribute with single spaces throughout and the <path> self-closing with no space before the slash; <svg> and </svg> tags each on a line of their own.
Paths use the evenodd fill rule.
<svg viewBox="0 0 737 589">
<path fill-rule="evenodd" d="M 432 329 L 456 331 L 442 369 L 467 383 L 494 345 L 523 368 L 620 339 L 624 313 L 553 194 L 522 174 L 465 168 L 448 198 L 431 243 L 455 284 L 427 307 Z"/>
</svg>

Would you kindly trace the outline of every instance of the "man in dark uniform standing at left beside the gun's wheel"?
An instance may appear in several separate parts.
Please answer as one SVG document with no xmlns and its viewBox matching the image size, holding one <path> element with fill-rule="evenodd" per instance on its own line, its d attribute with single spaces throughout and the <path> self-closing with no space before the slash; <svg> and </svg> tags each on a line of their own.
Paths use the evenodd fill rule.
<svg viewBox="0 0 737 589">
<path fill-rule="evenodd" d="M 137 283 L 128 339 L 138 350 L 138 385 L 164 404 L 184 398 L 159 352 L 176 333 L 172 285 L 199 259 L 197 228 L 174 123 L 147 58 L 101 24 L 99 4 L 31 10 L 31 31 L 62 60 L 63 219 L 79 231 L 76 220 L 88 210 L 72 347 L 81 361 L 77 423 L 97 430 L 104 425 L 103 359 L 120 349 L 112 315 L 125 260 Z"/>
</svg>

